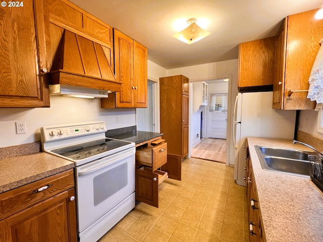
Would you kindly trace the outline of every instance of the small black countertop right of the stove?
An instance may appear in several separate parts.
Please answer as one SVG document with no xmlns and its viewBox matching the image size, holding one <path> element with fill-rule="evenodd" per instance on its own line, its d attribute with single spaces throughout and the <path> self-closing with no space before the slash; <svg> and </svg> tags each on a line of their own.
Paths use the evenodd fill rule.
<svg viewBox="0 0 323 242">
<path fill-rule="evenodd" d="M 163 136 L 163 133 L 154 133 L 154 132 L 146 132 L 146 131 L 133 131 L 124 134 L 118 134 L 114 136 L 110 136 L 108 138 L 118 139 L 118 140 L 125 140 L 134 142 L 136 144 L 145 142 L 147 140 L 154 139 L 156 137 Z"/>
</svg>

